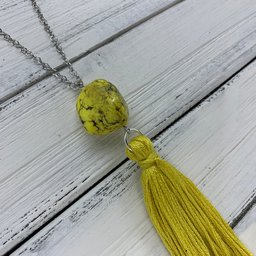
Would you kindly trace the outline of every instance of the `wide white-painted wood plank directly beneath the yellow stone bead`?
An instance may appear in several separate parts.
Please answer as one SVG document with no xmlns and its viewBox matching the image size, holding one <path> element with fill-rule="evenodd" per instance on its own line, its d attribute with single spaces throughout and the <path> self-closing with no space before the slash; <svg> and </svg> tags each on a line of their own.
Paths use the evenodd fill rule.
<svg viewBox="0 0 256 256">
<path fill-rule="evenodd" d="M 187 0 L 76 65 L 84 82 L 116 85 L 129 126 L 153 137 L 255 56 L 255 5 Z M 85 134 L 78 93 L 49 77 L 0 105 L 1 252 L 126 159 L 122 130 Z"/>
</svg>

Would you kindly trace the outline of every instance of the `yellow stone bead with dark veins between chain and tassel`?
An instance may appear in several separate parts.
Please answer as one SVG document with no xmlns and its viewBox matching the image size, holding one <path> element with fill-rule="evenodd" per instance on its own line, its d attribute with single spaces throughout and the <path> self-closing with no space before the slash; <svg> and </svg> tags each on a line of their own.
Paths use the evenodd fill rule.
<svg viewBox="0 0 256 256">
<path fill-rule="evenodd" d="M 78 116 L 90 134 L 104 135 L 129 120 L 128 106 L 117 88 L 104 79 L 86 85 L 76 102 Z"/>
</svg>

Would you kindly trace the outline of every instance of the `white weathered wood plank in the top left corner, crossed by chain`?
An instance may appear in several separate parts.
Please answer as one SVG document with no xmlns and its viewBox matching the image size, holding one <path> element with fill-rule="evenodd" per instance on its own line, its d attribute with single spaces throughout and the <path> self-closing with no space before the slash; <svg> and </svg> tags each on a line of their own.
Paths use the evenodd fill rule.
<svg viewBox="0 0 256 256">
<path fill-rule="evenodd" d="M 51 29 L 70 59 L 76 58 L 103 44 L 106 40 L 126 30 L 133 24 L 176 0 L 52 0 L 37 3 Z M 48 62 L 53 68 L 63 64 L 49 35 L 44 31 L 30 1 L 1 0 L 0 15 L 3 31 Z M 115 36 L 114 36 L 115 37 Z M 27 59 L 19 49 L 0 38 L 0 102 L 30 86 L 46 73 L 32 59 Z M 80 68 L 74 64 L 80 72 Z M 68 69 L 64 72 L 69 73 Z M 88 72 L 84 73 L 87 74 Z M 79 73 L 80 74 L 80 73 Z"/>
</svg>

